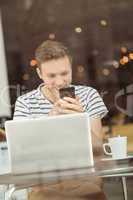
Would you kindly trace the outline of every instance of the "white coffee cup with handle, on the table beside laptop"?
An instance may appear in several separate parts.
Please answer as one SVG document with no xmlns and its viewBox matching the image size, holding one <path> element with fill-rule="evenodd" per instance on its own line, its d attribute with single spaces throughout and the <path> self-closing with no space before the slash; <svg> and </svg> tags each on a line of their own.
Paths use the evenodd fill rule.
<svg viewBox="0 0 133 200">
<path fill-rule="evenodd" d="M 106 147 L 110 148 L 110 152 Z M 127 157 L 127 137 L 118 136 L 108 139 L 108 143 L 103 144 L 103 150 L 106 155 L 112 156 L 113 159 L 122 159 Z"/>
</svg>

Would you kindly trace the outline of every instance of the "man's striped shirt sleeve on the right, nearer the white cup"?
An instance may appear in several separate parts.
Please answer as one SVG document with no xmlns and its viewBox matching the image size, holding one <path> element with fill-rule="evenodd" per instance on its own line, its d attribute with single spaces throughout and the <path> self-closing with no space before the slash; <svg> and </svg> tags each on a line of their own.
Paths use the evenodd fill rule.
<svg viewBox="0 0 133 200">
<path fill-rule="evenodd" d="M 93 88 L 88 92 L 87 95 L 86 112 L 89 114 L 89 117 L 94 118 L 103 118 L 108 113 L 101 96 L 97 90 Z"/>
</svg>

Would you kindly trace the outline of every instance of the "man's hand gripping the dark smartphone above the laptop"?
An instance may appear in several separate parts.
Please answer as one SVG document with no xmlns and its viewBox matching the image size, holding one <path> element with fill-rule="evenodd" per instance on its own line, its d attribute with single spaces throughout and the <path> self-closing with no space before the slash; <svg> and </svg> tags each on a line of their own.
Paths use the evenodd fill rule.
<svg viewBox="0 0 133 200">
<path fill-rule="evenodd" d="M 61 115 L 61 114 L 73 114 L 84 112 L 84 109 L 79 101 L 79 98 L 76 99 L 70 97 L 64 97 L 59 99 L 55 104 L 53 109 L 49 112 L 49 116 L 52 115 Z"/>
</svg>

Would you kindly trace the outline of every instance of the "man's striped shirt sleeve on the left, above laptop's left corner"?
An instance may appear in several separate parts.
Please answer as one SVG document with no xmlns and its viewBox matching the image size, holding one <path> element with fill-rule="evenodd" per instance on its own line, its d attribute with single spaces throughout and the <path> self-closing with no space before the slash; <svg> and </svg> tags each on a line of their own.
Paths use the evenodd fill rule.
<svg viewBox="0 0 133 200">
<path fill-rule="evenodd" d="M 30 112 L 28 108 L 28 104 L 25 100 L 23 100 L 21 97 L 18 97 L 15 103 L 15 110 L 14 110 L 14 116 L 13 119 L 22 119 L 25 117 L 30 117 Z"/>
</svg>

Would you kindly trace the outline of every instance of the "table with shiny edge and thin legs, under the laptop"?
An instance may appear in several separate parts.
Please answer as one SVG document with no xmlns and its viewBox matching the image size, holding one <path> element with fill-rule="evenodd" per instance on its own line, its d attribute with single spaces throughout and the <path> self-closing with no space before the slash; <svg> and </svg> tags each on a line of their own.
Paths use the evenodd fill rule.
<svg viewBox="0 0 133 200">
<path fill-rule="evenodd" d="M 133 176 L 133 159 L 122 162 L 117 161 L 97 161 L 93 168 L 82 168 L 75 170 L 54 171 L 49 173 L 26 173 L 12 174 L 9 169 L 9 160 L 7 150 L 0 153 L 0 184 L 13 186 L 8 188 L 9 199 L 17 189 L 28 188 L 38 184 L 53 184 L 59 180 L 82 178 L 90 176 L 100 177 L 122 177 L 124 199 L 127 200 L 126 177 Z"/>
</svg>

